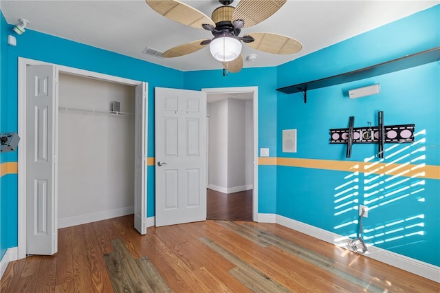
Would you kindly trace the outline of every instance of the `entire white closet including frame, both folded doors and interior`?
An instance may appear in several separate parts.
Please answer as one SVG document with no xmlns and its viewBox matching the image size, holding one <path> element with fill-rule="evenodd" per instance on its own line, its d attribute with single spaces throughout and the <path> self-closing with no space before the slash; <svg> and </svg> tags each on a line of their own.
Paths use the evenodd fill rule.
<svg viewBox="0 0 440 293">
<path fill-rule="evenodd" d="M 144 235 L 148 84 L 21 57 L 18 80 L 18 259 L 102 219 Z"/>
</svg>

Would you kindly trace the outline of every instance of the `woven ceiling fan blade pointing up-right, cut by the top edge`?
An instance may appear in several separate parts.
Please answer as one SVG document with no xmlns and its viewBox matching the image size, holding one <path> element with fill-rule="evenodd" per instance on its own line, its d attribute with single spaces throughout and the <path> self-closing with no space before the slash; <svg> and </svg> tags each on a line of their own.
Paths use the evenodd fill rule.
<svg viewBox="0 0 440 293">
<path fill-rule="evenodd" d="M 232 14 L 232 21 L 241 19 L 243 28 L 261 23 L 277 12 L 287 0 L 241 0 Z"/>
</svg>

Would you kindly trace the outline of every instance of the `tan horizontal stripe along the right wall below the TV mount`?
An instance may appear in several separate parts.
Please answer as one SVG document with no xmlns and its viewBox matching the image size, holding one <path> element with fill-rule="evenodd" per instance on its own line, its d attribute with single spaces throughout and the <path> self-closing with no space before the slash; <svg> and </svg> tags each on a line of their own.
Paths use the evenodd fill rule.
<svg viewBox="0 0 440 293">
<path fill-rule="evenodd" d="M 259 165 L 291 166 L 332 171 L 362 172 L 404 177 L 440 179 L 440 166 L 423 164 L 390 164 L 380 162 L 357 162 L 316 160 L 299 158 L 259 158 Z"/>
</svg>

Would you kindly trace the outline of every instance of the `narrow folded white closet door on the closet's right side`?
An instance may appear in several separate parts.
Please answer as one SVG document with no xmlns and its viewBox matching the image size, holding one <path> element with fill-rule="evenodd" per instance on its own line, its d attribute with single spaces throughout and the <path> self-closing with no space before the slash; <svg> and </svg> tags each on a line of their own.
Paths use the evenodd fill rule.
<svg viewBox="0 0 440 293">
<path fill-rule="evenodd" d="M 135 229 L 146 233 L 146 83 L 135 89 Z"/>
</svg>

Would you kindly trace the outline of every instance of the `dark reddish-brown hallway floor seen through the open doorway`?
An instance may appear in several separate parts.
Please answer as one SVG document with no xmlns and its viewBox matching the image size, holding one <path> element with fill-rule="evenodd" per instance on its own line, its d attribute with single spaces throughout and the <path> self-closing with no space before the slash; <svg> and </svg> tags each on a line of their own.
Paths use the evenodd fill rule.
<svg viewBox="0 0 440 293">
<path fill-rule="evenodd" d="M 238 193 L 206 191 L 207 219 L 252 221 L 252 190 Z"/>
</svg>

